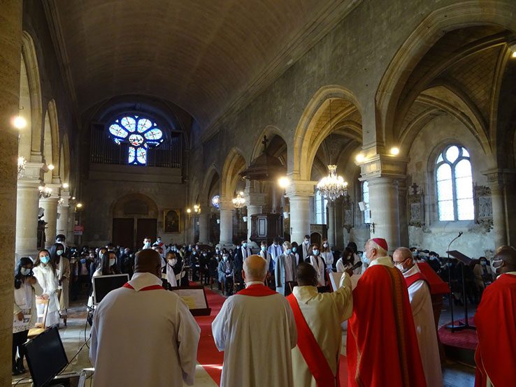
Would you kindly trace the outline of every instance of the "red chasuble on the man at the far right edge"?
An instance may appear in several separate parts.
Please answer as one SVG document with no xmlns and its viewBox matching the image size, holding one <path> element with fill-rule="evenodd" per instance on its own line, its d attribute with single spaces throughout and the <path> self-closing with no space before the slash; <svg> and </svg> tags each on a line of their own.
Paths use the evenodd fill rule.
<svg viewBox="0 0 516 387">
<path fill-rule="evenodd" d="M 482 294 L 475 314 L 478 346 L 475 387 L 516 384 L 516 275 L 503 274 Z"/>
</svg>

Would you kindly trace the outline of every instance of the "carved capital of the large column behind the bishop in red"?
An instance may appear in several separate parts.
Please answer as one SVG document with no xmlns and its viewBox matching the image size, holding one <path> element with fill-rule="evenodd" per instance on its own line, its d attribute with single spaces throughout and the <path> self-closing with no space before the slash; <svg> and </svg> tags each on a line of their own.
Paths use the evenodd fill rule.
<svg viewBox="0 0 516 387">
<path fill-rule="evenodd" d="M 405 179 L 407 173 L 408 157 L 392 156 L 389 154 L 372 154 L 366 156 L 363 161 L 356 161 L 360 167 L 359 180 L 370 180 L 375 177 L 390 177 L 392 179 Z"/>
</svg>

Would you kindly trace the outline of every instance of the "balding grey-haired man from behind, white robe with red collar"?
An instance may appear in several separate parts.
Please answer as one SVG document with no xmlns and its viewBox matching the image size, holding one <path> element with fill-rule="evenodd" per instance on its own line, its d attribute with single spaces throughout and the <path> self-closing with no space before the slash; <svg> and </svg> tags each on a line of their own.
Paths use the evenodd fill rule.
<svg viewBox="0 0 516 387">
<path fill-rule="evenodd" d="M 292 309 L 285 297 L 264 285 L 264 258 L 246 258 L 242 272 L 247 287 L 224 302 L 212 323 L 215 345 L 224 351 L 220 386 L 294 386 Z"/>
</svg>

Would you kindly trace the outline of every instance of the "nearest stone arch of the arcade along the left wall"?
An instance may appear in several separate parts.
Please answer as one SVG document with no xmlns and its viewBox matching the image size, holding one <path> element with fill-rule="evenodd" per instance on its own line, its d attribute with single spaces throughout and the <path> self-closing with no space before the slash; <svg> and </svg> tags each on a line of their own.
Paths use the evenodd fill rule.
<svg viewBox="0 0 516 387">
<path fill-rule="evenodd" d="M 27 31 L 22 33 L 22 63 L 25 65 L 30 96 L 31 115 L 31 161 L 41 161 L 43 103 L 41 101 L 41 78 L 34 40 Z M 27 107 L 28 108 L 28 107 Z"/>
</svg>

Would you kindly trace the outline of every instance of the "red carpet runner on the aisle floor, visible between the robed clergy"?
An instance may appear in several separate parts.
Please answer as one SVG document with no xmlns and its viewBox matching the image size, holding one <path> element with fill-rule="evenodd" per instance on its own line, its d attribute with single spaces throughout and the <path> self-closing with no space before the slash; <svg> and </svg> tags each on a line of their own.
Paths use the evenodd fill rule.
<svg viewBox="0 0 516 387">
<path fill-rule="evenodd" d="M 222 375 L 222 363 L 224 363 L 224 352 L 219 352 L 213 341 L 211 334 L 211 323 L 215 316 L 220 312 L 220 308 L 226 298 L 206 289 L 206 299 L 208 307 L 211 308 L 210 316 L 198 316 L 196 321 L 201 327 L 201 338 L 199 339 L 199 349 L 197 350 L 197 361 L 208 372 L 216 384 L 220 385 Z M 347 360 L 341 355 L 339 374 L 341 376 L 341 387 L 347 386 Z"/>
</svg>

